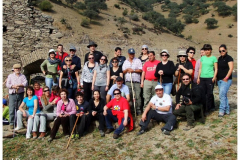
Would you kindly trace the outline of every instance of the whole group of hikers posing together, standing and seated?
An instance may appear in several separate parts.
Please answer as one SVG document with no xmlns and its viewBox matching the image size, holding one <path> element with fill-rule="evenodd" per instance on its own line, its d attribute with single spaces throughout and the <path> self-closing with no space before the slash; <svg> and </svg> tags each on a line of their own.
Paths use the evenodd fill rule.
<svg viewBox="0 0 240 160">
<path fill-rule="evenodd" d="M 9 107 L 3 99 L 4 111 L 9 109 L 9 115 L 4 112 L 4 124 L 19 132 L 24 128 L 25 117 L 26 138 L 42 139 L 49 122 L 54 121 L 48 139 L 52 141 L 60 125 L 66 137 L 72 133 L 70 138 L 80 138 L 89 133 L 92 121 L 97 120 L 102 137 L 114 131 L 113 138 L 117 139 L 125 127 L 128 131 L 134 129 L 132 115 L 135 115 L 141 116 L 137 135 L 147 131 L 151 119 L 164 122 L 162 133 L 169 135 L 176 125 L 176 116 L 186 117 L 187 131 L 194 127 L 196 116 L 204 117 L 215 110 L 215 82 L 220 98 L 218 116 L 230 114 L 227 92 L 232 83 L 233 58 L 224 44 L 219 47 L 218 59 L 212 55 L 210 44 L 204 44 L 197 61 L 194 47 L 180 50 L 176 65 L 169 60 L 168 50 L 160 52 L 159 61 L 147 45 L 142 46 L 138 58 L 133 48 L 128 49 L 126 58 L 121 55 L 122 49 L 116 47 L 109 65 L 107 56 L 96 51 L 95 42 L 87 47 L 90 51 L 85 55 L 83 68 L 74 46 L 69 54 L 63 52 L 61 44 L 57 52 L 50 49 L 40 66 L 45 75 L 42 88 L 38 81 L 28 86 L 21 65 L 14 64 L 6 81 Z M 176 105 L 171 94 L 176 97 Z M 112 122 L 118 123 L 115 130 Z"/>
</svg>

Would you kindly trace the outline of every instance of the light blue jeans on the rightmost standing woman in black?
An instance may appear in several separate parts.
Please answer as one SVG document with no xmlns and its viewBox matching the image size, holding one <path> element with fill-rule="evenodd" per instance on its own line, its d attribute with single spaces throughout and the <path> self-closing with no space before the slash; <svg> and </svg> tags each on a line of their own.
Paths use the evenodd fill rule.
<svg viewBox="0 0 240 160">
<path fill-rule="evenodd" d="M 224 82 L 223 80 L 218 81 L 218 90 L 219 90 L 219 99 L 220 99 L 219 113 L 230 114 L 230 106 L 228 103 L 227 92 L 231 84 L 232 84 L 231 79 L 229 79 L 227 82 Z"/>
</svg>

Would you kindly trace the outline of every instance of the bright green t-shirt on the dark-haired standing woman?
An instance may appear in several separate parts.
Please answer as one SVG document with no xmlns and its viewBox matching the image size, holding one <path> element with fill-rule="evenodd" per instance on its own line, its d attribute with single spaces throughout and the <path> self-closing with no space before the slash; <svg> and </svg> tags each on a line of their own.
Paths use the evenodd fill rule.
<svg viewBox="0 0 240 160">
<path fill-rule="evenodd" d="M 215 56 L 207 57 L 202 56 L 201 57 L 201 78 L 212 78 L 214 76 L 214 63 L 217 63 L 217 58 Z"/>
</svg>

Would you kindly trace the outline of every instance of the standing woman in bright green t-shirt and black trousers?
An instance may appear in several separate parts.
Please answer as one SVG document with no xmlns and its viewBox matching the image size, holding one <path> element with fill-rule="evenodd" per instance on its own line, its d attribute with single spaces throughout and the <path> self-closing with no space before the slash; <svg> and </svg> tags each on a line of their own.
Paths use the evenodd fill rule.
<svg viewBox="0 0 240 160">
<path fill-rule="evenodd" d="M 212 56 L 212 46 L 210 44 L 204 44 L 203 49 L 205 56 L 202 56 L 200 60 L 197 84 L 200 84 L 205 91 L 206 105 L 204 107 L 204 113 L 207 115 L 215 109 L 213 88 L 217 77 L 218 64 L 217 58 Z"/>
</svg>

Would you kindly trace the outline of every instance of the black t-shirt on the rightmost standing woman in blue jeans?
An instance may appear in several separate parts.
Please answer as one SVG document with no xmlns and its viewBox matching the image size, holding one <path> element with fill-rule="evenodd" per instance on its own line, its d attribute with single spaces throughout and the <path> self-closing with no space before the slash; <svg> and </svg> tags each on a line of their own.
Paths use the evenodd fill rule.
<svg viewBox="0 0 240 160">
<path fill-rule="evenodd" d="M 233 58 L 228 54 L 226 54 L 225 56 L 220 56 L 218 58 L 218 74 L 217 74 L 218 80 L 222 80 L 226 77 L 229 71 L 228 62 L 233 62 Z M 228 79 L 232 79 L 232 74 Z"/>
</svg>

